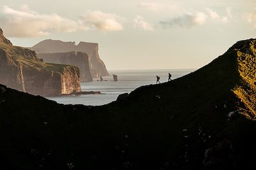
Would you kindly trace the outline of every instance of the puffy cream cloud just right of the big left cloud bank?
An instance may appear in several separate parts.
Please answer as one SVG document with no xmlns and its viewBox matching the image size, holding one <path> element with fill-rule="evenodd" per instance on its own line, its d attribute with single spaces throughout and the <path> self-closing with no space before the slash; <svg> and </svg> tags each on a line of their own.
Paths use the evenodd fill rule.
<svg viewBox="0 0 256 170">
<path fill-rule="evenodd" d="M 103 13 L 102 11 L 89 11 L 87 15 L 81 16 L 85 25 L 89 25 L 100 31 L 120 31 L 123 29 L 119 20 L 121 17 L 113 13 Z"/>
</svg>

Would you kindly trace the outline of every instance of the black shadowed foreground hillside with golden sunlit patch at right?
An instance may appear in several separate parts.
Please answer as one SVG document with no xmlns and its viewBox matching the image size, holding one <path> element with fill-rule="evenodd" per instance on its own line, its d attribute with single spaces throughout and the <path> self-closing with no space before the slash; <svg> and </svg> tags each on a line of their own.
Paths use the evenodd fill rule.
<svg viewBox="0 0 256 170">
<path fill-rule="evenodd" d="M 255 156 L 255 39 L 104 106 L 0 87 L 6 169 L 246 169 Z"/>
</svg>

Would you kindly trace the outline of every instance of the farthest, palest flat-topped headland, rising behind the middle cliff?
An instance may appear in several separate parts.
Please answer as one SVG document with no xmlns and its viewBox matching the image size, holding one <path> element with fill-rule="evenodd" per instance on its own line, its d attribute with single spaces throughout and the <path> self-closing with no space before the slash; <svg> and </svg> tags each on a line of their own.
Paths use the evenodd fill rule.
<svg viewBox="0 0 256 170">
<path fill-rule="evenodd" d="M 109 76 L 104 62 L 99 57 L 99 45 L 97 43 L 80 42 L 76 45 L 75 42 L 46 39 L 30 49 L 35 50 L 36 53 L 85 52 L 89 57 L 90 71 L 93 78 Z M 77 64 L 74 65 L 77 66 Z"/>
</svg>

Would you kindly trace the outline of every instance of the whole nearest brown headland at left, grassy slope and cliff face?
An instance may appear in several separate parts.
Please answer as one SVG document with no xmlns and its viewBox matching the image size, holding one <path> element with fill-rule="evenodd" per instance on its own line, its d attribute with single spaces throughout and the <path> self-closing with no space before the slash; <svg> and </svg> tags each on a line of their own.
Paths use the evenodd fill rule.
<svg viewBox="0 0 256 170">
<path fill-rule="evenodd" d="M 41 96 L 81 92 L 78 67 L 42 62 L 36 52 L 13 46 L 0 33 L 0 83 Z"/>
</svg>

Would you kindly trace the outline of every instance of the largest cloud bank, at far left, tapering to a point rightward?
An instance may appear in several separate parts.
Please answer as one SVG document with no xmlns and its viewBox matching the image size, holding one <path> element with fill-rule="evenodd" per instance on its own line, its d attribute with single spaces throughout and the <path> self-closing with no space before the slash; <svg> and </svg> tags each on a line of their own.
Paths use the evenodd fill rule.
<svg viewBox="0 0 256 170">
<path fill-rule="evenodd" d="M 45 36 L 51 32 L 75 32 L 89 29 L 77 21 L 63 18 L 60 15 L 40 15 L 23 5 L 21 10 L 13 10 L 4 6 L 4 15 L 0 20 L 6 36 L 35 37 Z"/>
</svg>

